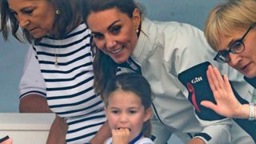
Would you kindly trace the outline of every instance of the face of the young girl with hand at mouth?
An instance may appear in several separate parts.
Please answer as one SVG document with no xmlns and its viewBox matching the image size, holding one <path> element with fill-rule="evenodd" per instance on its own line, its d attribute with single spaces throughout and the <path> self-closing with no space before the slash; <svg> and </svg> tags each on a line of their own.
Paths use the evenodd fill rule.
<svg viewBox="0 0 256 144">
<path fill-rule="evenodd" d="M 143 122 L 150 119 L 151 109 L 145 110 L 141 98 L 130 91 L 116 90 L 110 94 L 106 118 L 111 129 L 129 129 L 129 141 L 142 131 Z"/>
</svg>

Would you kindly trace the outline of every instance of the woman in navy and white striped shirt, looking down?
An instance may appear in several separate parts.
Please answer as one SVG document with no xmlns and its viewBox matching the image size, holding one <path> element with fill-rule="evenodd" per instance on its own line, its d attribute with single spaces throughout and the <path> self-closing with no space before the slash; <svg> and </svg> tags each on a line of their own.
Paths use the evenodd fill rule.
<svg viewBox="0 0 256 144">
<path fill-rule="evenodd" d="M 108 136 L 94 137 L 106 116 L 94 93 L 90 30 L 82 22 L 80 2 L 1 1 L 3 37 L 11 30 L 18 38 L 21 27 L 31 43 L 20 84 L 20 110 L 56 114 L 47 143 L 99 143 Z"/>
</svg>

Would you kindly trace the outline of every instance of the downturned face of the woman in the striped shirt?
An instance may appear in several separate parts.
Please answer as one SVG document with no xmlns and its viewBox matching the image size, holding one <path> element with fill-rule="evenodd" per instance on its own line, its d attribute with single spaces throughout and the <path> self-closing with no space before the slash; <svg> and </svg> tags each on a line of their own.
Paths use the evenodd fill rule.
<svg viewBox="0 0 256 144">
<path fill-rule="evenodd" d="M 55 10 L 49 0 L 7 0 L 10 11 L 19 25 L 34 38 L 50 34 L 54 25 Z"/>
</svg>

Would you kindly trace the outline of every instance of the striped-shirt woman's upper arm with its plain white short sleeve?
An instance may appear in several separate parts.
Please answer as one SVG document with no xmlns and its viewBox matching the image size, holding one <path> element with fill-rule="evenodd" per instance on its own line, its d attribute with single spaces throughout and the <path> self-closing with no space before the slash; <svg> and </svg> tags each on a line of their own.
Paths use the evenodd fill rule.
<svg viewBox="0 0 256 144">
<path fill-rule="evenodd" d="M 19 83 L 21 113 L 50 113 L 46 102 L 46 86 L 32 46 L 28 48 Z"/>
</svg>

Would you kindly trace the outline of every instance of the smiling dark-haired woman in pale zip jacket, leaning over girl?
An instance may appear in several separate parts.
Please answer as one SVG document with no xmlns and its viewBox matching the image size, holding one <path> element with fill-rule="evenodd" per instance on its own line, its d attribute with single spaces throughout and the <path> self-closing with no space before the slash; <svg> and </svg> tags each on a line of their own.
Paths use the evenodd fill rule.
<svg viewBox="0 0 256 144">
<path fill-rule="evenodd" d="M 172 133 L 183 142 L 197 144 L 252 143 L 250 136 L 230 119 L 215 119 L 213 112 L 195 110 L 194 107 L 202 106 L 194 102 L 178 80 L 178 74 L 184 70 L 209 61 L 222 72 L 229 72 L 234 82 L 243 83 L 242 75 L 211 59 L 214 51 L 201 30 L 184 23 L 152 22 L 142 18 L 132 0 L 83 2 L 83 18 L 90 27 L 95 46 L 94 86 L 97 92 L 105 90 L 118 66 L 130 67 L 142 74 L 154 95 L 151 122 L 155 143 L 166 143 Z"/>
</svg>

